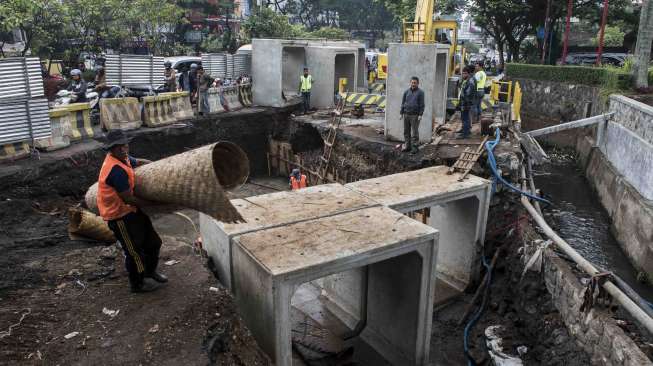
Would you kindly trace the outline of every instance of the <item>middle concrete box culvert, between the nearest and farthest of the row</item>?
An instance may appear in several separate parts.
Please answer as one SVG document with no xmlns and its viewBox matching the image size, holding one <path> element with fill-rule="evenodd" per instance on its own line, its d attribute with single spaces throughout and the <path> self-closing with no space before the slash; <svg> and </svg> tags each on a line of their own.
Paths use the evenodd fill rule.
<svg viewBox="0 0 653 366">
<path fill-rule="evenodd" d="M 213 259 L 220 281 L 229 289 L 232 289 L 231 238 L 234 236 L 378 205 L 335 183 L 235 199 L 231 203 L 246 223 L 224 224 L 200 213 L 204 249 Z"/>
</svg>

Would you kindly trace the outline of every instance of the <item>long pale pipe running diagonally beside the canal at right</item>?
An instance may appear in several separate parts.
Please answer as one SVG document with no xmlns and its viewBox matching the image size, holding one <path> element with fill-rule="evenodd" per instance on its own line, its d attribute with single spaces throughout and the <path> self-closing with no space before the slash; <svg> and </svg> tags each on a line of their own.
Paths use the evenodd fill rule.
<svg viewBox="0 0 653 366">
<path fill-rule="evenodd" d="M 583 258 L 578 252 L 572 248 L 567 242 L 556 234 L 556 232 L 551 229 L 551 227 L 546 223 L 544 218 L 537 213 L 535 207 L 528 201 L 526 196 L 521 196 L 521 203 L 524 205 L 528 213 L 531 214 L 537 225 L 544 231 L 546 236 L 553 240 L 553 242 L 558 246 L 558 248 L 563 251 L 567 256 L 569 256 L 574 262 L 578 264 L 589 275 L 596 275 L 599 271 L 585 258 Z M 653 319 L 651 319 L 645 312 L 642 310 L 633 300 L 630 299 L 626 294 L 624 294 L 617 286 L 615 286 L 610 281 L 605 281 L 603 288 L 612 296 L 613 299 L 617 300 L 624 310 L 626 310 L 635 320 L 641 324 L 650 334 L 653 334 Z"/>
</svg>

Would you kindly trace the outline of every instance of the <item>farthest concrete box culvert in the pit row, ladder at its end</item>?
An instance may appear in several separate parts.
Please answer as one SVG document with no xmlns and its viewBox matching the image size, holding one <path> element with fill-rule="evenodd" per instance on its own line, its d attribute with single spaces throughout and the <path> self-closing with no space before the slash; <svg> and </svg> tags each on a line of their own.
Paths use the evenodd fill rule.
<svg viewBox="0 0 653 366">
<path fill-rule="evenodd" d="M 448 169 L 436 166 L 345 187 L 402 213 L 428 208 L 428 224 L 441 233 L 437 275 L 463 291 L 481 267 L 491 182 L 473 175 L 459 182 Z"/>
</svg>

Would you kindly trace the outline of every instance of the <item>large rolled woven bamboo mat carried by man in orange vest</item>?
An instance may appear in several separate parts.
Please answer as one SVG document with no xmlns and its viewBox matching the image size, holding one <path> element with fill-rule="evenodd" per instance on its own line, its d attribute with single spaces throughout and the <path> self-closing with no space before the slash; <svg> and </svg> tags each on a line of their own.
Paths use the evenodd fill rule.
<svg viewBox="0 0 653 366">
<path fill-rule="evenodd" d="M 238 188 L 249 176 L 249 159 L 237 145 L 221 141 L 136 168 L 134 194 L 166 206 L 147 212 L 190 208 L 218 221 L 243 222 L 225 190 Z M 86 193 L 86 205 L 97 212 L 97 183 Z"/>
</svg>

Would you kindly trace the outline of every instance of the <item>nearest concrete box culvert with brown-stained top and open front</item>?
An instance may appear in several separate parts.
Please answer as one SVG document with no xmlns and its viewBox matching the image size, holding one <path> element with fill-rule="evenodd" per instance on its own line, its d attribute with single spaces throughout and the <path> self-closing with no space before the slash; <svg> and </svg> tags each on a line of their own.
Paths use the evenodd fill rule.
<svg viewBox="0 0 653 366">
<path fill-rule="evenodd" d="M 438 232 L 385 207 L 234 238 L 236 302 L 277 365 L 291 363 L 290 299 L 303 283 L 367 268 L 361 337 L 397 365 L 428 363 Z"/>
</svg>

